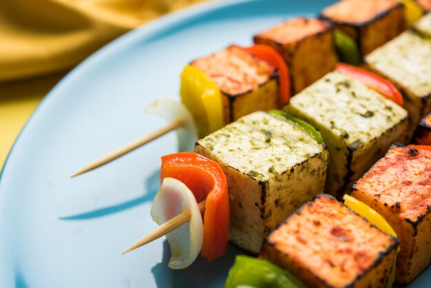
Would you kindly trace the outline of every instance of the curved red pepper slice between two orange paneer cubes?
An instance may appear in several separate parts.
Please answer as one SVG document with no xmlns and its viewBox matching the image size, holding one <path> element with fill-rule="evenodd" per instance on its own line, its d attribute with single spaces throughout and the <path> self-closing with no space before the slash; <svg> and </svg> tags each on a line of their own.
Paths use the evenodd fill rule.
<svg viewBox="0 0 431 288">
<path fill-rule="evenodd" d="M 280 108 L 284 107 L 291 98 L 291 78 L 283 57 L 268 45 L 255 44 L 243 49 L 277 68 L 280 76 L 280 99 L 278 105 Z"/>
</svg>

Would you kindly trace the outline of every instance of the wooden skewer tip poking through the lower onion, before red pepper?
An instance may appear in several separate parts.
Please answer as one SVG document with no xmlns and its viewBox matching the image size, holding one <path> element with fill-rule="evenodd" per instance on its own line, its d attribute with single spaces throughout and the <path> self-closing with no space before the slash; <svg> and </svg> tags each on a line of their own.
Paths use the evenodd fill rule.
<svg viewBox="0 0 431 288">
<path fill-rule="evenodd" d="M 200 213 L 203 213 L 205 211 L 205 202 L 206 200 L 203 200 L 201 203 L 198 204 Z M 174 231 L 181 225 L 189 222 L 190 220 L 190 212 L 182 212 L 181 214 L 178 214 L 171 220 L 166 221 L 156 229 L 154 229 L 153 232 L 150 232 L 147 236 L 144 236 L 143 238 L 140 238 L 134 245 L 127 248 L 126 251 L 123 252 L 123 254 L 126 254 L 129 251 L 132 251 L 138 247 L 141 247 L 147 243 L 150 243 L 163 235 L 168 234 L 169 232 Z"/>
</svg>

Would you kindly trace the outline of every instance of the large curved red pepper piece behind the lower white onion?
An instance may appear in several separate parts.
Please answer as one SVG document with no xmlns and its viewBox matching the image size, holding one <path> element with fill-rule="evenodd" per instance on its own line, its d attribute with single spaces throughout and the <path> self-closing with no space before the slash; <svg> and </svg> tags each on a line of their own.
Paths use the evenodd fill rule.
<svg viewBox="0 0 431 288">
<path fill-rule="evenodd" d="M 202 155 L 180 152 L 162 156 L 160 180 L 166 177 L 185 183 L 198 203 L 207 199 L 200 254 L 207 260 L 222 256 L 227 251 L 230 225 L 229 194 L 222 167 Z"/>
</svg>

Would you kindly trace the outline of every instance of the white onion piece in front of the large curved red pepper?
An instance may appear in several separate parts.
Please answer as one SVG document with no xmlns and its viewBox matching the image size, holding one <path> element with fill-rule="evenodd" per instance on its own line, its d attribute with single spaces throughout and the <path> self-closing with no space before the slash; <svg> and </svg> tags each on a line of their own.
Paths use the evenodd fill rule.
<svg viewBox="0 0 431 288">
<path fill-rule="evenodd" d="M 158 225 L 162 225 L 182 212 L 190 213 L 190 221 L 166 234 L 171 248 L 168 266 L 172 269 L 183 269 L 193 263 L 202 248 L 204 232 L 202 216 L 193 193 L 181 181 L 167 177 L 154 197 L 151 217 Z"/>
</svg>

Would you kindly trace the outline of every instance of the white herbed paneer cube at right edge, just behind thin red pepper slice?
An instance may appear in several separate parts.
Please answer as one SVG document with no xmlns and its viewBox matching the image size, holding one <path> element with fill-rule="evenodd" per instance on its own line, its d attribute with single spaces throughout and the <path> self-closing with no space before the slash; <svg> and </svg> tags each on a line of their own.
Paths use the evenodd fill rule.
<svg viewBox="0 0 431 288">
<path fill-rule="evenodd" d="M 431 111 L 431 42 L 406 31 L 366 56 L 366 63 L 403 93 L 410 141 L 419 120 Z"/>
</svg>

